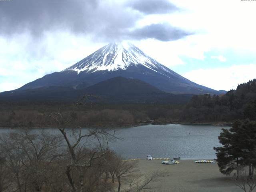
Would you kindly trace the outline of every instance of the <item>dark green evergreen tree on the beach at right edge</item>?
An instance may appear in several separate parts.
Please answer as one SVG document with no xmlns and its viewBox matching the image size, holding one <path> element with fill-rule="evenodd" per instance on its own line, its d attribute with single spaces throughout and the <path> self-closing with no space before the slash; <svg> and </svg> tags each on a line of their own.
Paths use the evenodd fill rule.
<svg viewBox="0 0 256 192">
<path fill-rule="evenodd" d="M 248 166 L 252 178 L 256 166 L 256 122 L 236 121 L 229 130 L 222 129 L 218 138 L 223 146 L 214 150 L 220 172 L 229 175 L 236 170 L 239 177 L 239 169 Z"/>
</svg>

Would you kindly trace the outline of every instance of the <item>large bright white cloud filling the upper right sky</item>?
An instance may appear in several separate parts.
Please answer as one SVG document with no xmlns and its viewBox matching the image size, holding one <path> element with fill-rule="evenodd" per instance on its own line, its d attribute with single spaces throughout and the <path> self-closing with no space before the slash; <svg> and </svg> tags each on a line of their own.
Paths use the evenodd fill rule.
<svg viewBox="0 0 256 192">
<path fill-rule="evenodd" d="M 217 54 L 231 49 L 239 56 L 256 55 L 256 28 L 251 22 L 244 20 L 244 18 L 256 17 L 255 2 L 240 0 L 172 0 L 172 2 L 180 7 L 181 11 L 173 14 L 150 15 L 140 20 L 138 25 L 169 22 L 172 26 L 194 32 L 195 35 L 162 43 L 161 50 L 171 50 L 169 54 L 176 58 L 187 56 L 201 60 L 204 59 L 204 53 L 211 50 Z M 151 46 L 147 49 L 154 52 L 153 48 L 154 46 Z"/>
</svg>

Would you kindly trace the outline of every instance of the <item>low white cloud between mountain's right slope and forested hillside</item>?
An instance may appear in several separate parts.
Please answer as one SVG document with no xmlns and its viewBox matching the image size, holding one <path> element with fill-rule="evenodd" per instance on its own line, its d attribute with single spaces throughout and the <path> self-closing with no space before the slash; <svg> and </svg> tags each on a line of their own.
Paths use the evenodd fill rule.
<svg viewBox="0 0 256 192">
<path fill-rule="evenodd" d="M 181 74 L 189 80 L 215 90 L 236 89 L 238 84 L 256 78 L 256 64 L 234 65 L 224 68 L 199 69 Z"/>
</svg>

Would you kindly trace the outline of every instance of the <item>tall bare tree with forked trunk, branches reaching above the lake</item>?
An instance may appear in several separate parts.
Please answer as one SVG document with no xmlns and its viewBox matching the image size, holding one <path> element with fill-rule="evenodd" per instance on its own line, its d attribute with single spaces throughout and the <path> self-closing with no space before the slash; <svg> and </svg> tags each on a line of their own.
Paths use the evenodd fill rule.
<svg viewBox="0 0 256 192">
<path fill-rule="evenodd" d="M 74 125 L 76 115 L 74 109 L 79 105 L 84 105 L 84 96 L 79 100 L 70 113 L 62 115 L 60 110 L 56 114 L 47 114 L 58 125 L 58 130 L 62 134 L 67 148 L 69 161 L 66 164 L 66 175 L 73 192 L 83 192 L 85 184 L 88 182 L 84 172 L 91 167 L 97 167 L 95 161 L 104 158 L 106 149 L 108 149 L 108 140 L 115 138 L 114 133 L 107 130 L 91 129 L 82 132 L 79 125 Z M 68 127 L 72 128 L 69 128 Z"/>
</svg>

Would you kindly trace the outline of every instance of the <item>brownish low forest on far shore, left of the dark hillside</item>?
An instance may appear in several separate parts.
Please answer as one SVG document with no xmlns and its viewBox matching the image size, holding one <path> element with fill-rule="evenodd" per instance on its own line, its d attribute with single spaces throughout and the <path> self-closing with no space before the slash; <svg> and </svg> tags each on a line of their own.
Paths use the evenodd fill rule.
<svg viewBox="0 0 256 192">
<path fill-rule="evenodd" d="M 68 115 L 72 105 L 1 106 L 0 127 L 52 127 L 56 122 L 45 114 L 60 110 Z M 180 109 L 179 109 L 180 108 Z M 170 122 L 178 119 L 182 106 L 163 104 L 90 104 L 79 106 L 73 112 L 76 124 L 81 126 L 132 126 L 152 122 Z M 171 117 L 171 118 L 169 118 Z"/>
</svg>

